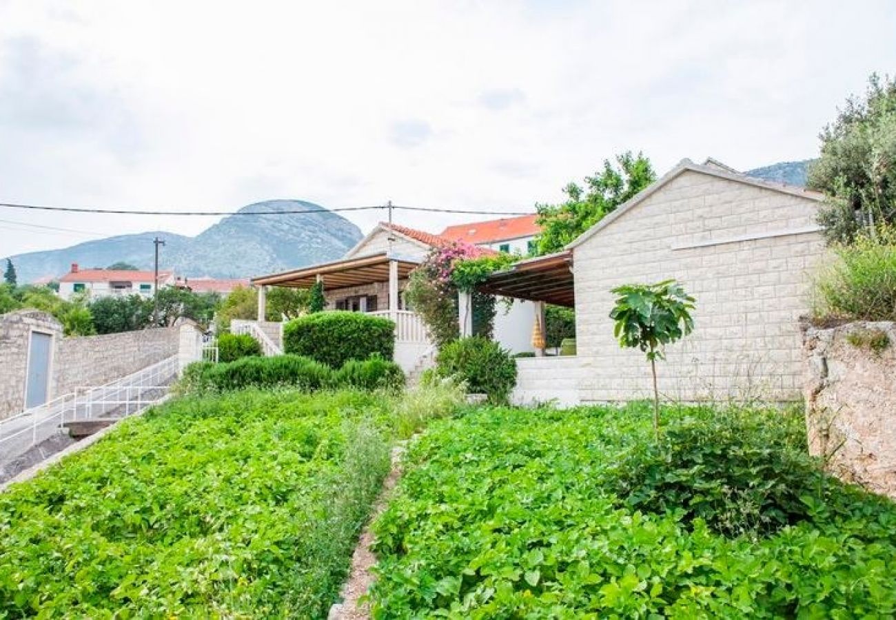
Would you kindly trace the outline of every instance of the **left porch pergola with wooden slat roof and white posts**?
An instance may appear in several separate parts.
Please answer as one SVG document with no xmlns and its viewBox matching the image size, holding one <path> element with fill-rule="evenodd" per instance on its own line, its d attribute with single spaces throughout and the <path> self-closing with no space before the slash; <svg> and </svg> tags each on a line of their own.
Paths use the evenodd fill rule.
<svg viewBox="0 0 896 620">
<path fill-rule="evenodd" d="M 258 276 L 251 280 L 258 288 L 258 320 L 264 320 L 266 287 L 311 288 L 317 281 L 322 281 L 327 290 L 389 282 L 389 309 L 397 310 L 399 280 L 407 278 L 419 263 L 418 259 L 409 256 L 381 252 Z"/>
</svg>

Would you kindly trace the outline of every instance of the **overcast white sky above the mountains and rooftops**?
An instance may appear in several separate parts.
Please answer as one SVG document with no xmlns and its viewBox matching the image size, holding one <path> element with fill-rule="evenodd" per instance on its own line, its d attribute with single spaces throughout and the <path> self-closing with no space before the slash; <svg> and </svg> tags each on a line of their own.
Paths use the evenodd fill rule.
<svg viewBox="0 0 896 620">
<path fill-rule="evenodd" d="M 894 32 L 887 0 L 0 0 L 0 202 L 530 211 L 628 149 L 806 159 Z M 0 208 L 0 256 L 214 221 Z"/>
</svg>

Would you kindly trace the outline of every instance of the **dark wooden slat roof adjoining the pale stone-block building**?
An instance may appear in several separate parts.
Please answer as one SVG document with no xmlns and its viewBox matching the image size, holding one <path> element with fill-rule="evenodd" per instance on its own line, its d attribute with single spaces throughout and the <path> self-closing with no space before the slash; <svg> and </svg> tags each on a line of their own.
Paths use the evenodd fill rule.
<svg viewBox="0 0 896 620">
<path fill-rule="evenodd" d="M 483 293 L 575 306 L 573 254 L 559 252 L 530 258 L 504 271 L 495 271 L 477 287 Z"/>
</svg>

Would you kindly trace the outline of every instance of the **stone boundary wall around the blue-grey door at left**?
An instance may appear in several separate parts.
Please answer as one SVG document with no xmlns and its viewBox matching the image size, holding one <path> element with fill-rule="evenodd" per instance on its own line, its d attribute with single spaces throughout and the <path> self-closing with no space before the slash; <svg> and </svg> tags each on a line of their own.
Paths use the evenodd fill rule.
<svg viewBox="0 0 896 620">
<path fill-rule="evenodd" d="M 108 383 L 176 355 L 179 327 L 63 338 L 50 314 L 20 310 L 0 315 L 0 419 L 22 411 L 30 332 L 53 335 L 48 399 L 76 387 Z"/>
</svg>

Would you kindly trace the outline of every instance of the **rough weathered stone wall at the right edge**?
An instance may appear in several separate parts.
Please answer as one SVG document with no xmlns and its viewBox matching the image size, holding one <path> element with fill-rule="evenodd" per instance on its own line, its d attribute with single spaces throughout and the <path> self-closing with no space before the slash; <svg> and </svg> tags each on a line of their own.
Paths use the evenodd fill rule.
<svg viewBox="0 0 896 620">
<path fill-rule="evenodd" d="M 881 339 L 883 349 L 869 346 Z M 809 450 L 838 477 L 896 499 L 896 323 L 806 328 Z"/>
</svg>

